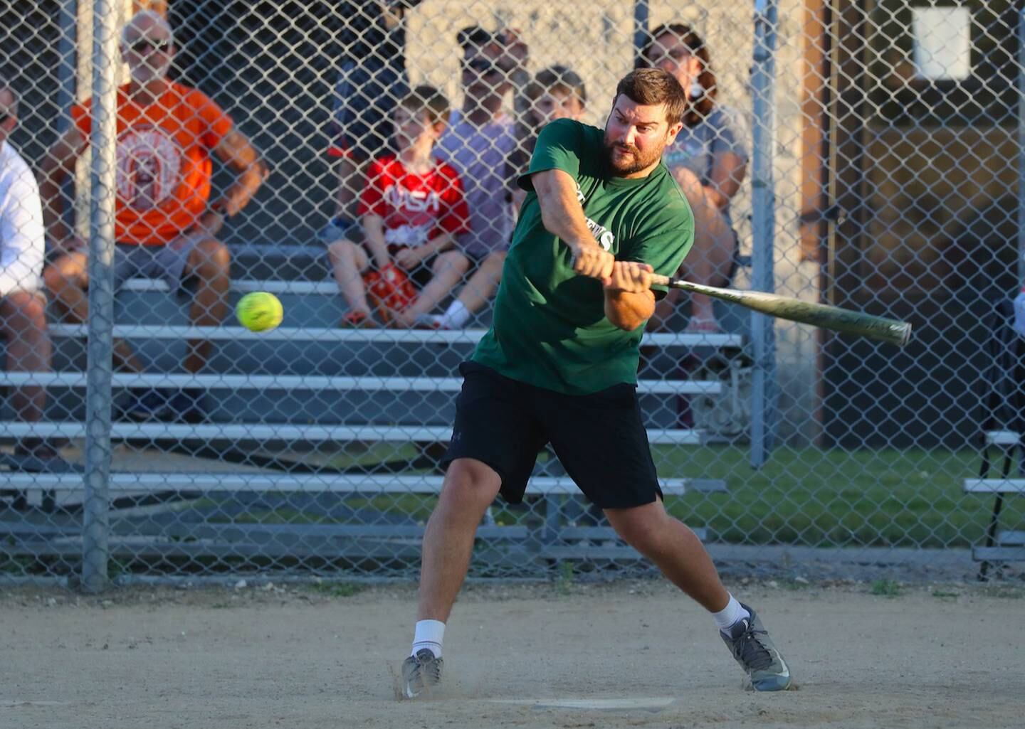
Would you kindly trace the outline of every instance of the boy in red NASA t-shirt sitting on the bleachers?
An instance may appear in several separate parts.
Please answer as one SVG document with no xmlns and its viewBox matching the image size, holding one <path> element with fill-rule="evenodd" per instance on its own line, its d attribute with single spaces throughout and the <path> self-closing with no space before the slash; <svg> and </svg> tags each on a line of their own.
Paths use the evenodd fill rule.
<svg viewBox="0 0 1025 729">
<path fill-rule="evenodd" d="M 335 281 L 348 304 L 343 327 L 376 327 L 367 295 L 384 324 L 410 327 L 452 291 L 469 263 L 455 248 L 469 211 L 456 171 L 434 155 L 448 100 L 417 86 L 394 111 L 396 154 L 370 165 L 360 198 L 364 245 L 328 247 Z M 417 295 L 410 283 L 422 286 Z"/>
</svg>

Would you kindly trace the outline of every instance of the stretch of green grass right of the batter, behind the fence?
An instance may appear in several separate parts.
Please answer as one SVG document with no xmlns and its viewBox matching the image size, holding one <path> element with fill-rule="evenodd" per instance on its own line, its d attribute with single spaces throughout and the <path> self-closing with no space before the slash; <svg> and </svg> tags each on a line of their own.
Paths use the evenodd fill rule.
<svg viewBox="0 0 1025 729">
<path fill-rule="evenodd" d="M 739 446 L 656 446 L 663 477 L 719 478 L 725 494 L 669 497 L 670 513 L 714 541 L 814 547 L 969 547 L 991 498 L 962 494 L 974 451 L 776 448 L 754 470 Z M 1008 523 L 1025 518 L 1007 514 Z"/>
</svg>

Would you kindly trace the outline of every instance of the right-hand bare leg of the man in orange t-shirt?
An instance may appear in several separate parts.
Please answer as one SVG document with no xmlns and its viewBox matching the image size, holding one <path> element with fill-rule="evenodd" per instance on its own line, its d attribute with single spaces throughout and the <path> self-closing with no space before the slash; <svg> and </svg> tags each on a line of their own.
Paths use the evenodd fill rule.
<svg viewBox="0 0 1025 729">
<path fill-rule="evenodd" d="M 200 241 L 189 254 L 184 275 L 197 278 L 196 299 L 189 311 L 194 327 L 216 327 L 223 320 L 232 284 L 231 264 L 228 248 L 213 238 Z M 186 372 L 202 370 L 211 346 L 209 340 L 190 341 L 183 362 Z"/>
</svg>

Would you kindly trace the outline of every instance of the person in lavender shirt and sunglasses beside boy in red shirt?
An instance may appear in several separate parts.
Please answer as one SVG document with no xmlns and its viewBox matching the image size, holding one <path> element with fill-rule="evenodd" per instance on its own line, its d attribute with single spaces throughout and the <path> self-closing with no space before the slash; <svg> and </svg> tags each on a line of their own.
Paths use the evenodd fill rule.
<svg viewBox="0 0 1025 729">
<path fill-rule="evenodd" d="M 505 94 L 527 57 L 527 46 L 515 32 L 492 33 L 479 26 L 459 31 L 462 46 L 462 112 L 438 143 L 438 154 L 456 168 L 466 188 L 469 232 L 458 239 L 477 283 L 463 287 L 442 316 L 421 316 L 427 329 L 459 329 L 490 297 L 501 274 L 516 222 L 505 177 L 506 161 L 517 146 L 512 120 L 502 111 Z M 478 293 L 480 292 L 480 293 Z"/>
</svg>

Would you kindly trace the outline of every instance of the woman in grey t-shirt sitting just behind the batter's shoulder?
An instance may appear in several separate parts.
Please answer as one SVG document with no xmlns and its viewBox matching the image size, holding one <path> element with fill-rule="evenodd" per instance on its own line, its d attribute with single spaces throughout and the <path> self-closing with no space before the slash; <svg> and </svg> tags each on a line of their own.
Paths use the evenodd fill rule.
<svg viewBox="0 0 1025 729">
<path fill-rule="evenodd" d="M 657 27 L 650 38 L 644 49 L 645 63 L 672 74 L 688 92 L 684 129 L 663 157 L 694 211 L 694 248 L 680 275 L 695 284 L 729 286 L 740 245 L 733 230 L 730 201 L 747 171 L 747 152 L 731 114 L 715 101 L 715 75 L 701 37 L 690 27 L 673 23 Z M 670 289 L 659 302 L 650 330 L 661 328 L 672 314 L 680 293 Z M 720 331 L 707 296 L 691 296 L 687 331 Z"/>
</svg>

